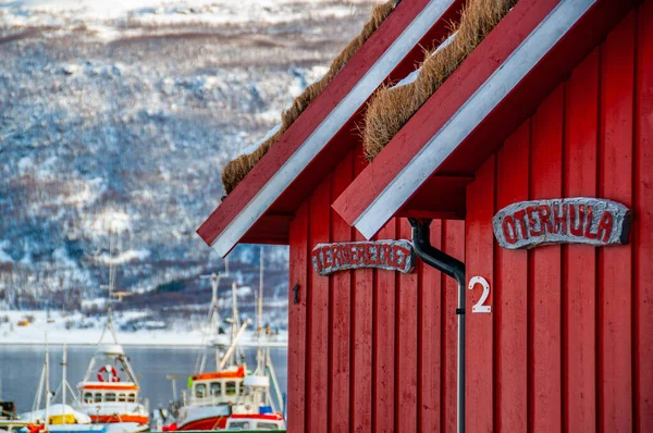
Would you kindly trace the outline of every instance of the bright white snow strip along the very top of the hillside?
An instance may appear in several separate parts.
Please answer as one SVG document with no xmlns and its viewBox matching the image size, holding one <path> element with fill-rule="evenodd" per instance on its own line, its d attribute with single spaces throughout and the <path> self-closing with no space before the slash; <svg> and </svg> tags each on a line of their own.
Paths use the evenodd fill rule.
<svg viewBox="0 0 653 433">
<path fill-rule="evenodd" d="M 261 25 L 343 18 L 364 0 L 342 3 L 296 0 L 0 0 L 0 24 L 14 28 L 83 27 L 104 41 L 141 34 L 138 27 Z"/>
</svg>

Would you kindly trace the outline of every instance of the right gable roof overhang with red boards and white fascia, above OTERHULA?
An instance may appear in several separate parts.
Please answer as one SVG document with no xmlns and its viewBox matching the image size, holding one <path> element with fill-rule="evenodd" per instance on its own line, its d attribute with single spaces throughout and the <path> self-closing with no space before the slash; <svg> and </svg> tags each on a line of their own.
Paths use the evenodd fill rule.
<svg viewBox="0 0 653 433">
<path fill-rule="evenodd" d="M 333 208 L 367 238 L 411 208 L 464 214 L 442 191 L 459 191 L 636 3 L 520 0 Z"/>
</svg>

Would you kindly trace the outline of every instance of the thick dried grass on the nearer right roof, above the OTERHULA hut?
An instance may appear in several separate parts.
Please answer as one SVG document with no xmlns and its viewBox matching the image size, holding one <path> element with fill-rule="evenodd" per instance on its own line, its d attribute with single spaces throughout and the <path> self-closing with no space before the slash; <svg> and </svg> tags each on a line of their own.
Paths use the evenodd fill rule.
<svg viewBox="0 0 653 433">
<path fill-rule="evenodd" d="M 365 117 L 364 146 L 368 160 L 374 159 L 419 108 L 469 57 L 518 0 L 469 0 L 449 45 L 427 52 L 417 79 L 399 87 L 378 90 Z"/>
</svg>

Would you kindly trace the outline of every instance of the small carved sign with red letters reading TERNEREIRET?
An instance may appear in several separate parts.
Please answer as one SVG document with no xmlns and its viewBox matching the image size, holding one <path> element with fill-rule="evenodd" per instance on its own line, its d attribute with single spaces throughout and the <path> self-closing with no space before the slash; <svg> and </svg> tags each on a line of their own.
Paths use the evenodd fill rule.
<svg viewBox="0 0 653 433">
<path fill-rule="evenodd" d="M 408 240 L 318 244 L 311 258 L 320 275 L 360 268 L 408 273 L 415 268 L 412 244 Z"/>
</svg>

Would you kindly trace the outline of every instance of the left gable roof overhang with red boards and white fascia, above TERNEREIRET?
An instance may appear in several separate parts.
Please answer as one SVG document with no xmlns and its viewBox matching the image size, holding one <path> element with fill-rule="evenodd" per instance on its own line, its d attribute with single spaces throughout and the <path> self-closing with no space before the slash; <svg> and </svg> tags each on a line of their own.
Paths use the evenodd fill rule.
<svg viewBox="0 0 653 433">
<path fill-rule="evenodd" d="M 344 154 L 338 134 L 384 82 L 412 69 L 420 42 L 439 40 L 463 0 L 397 5 L 329 86 L 226 196 L 197 233 L 221 256 L 242 240 L 285 243 L 293 212 Z M 399 74 L 403 73 L 403 75 Z"/>
</svg>

